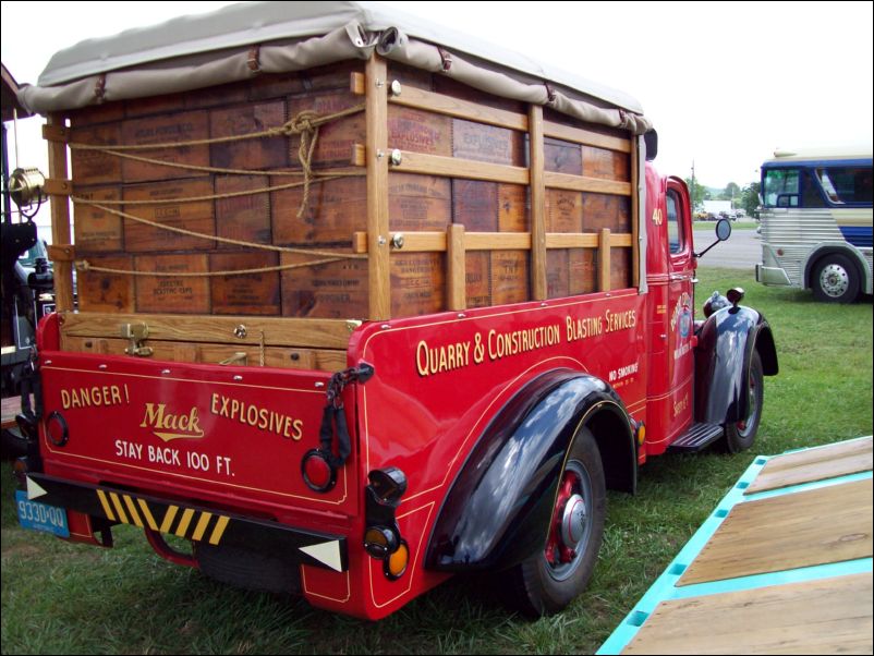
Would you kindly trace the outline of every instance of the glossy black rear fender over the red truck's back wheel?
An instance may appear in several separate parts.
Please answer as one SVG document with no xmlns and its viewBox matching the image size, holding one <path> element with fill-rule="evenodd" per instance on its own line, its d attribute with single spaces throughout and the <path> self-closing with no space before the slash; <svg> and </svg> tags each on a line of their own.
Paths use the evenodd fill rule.
<svg viewBox="0 0 874 656">
<path fill-rule="evenodd" d="M 634 429 L 612 388 L 556 369 L 525 385 L 483 432 L 447 495 L 425 567 L 500 570 L 543 549 L 565 457 L 581 424 L 596 426 L 608 485 L 633 491 Z"/>
</svg>

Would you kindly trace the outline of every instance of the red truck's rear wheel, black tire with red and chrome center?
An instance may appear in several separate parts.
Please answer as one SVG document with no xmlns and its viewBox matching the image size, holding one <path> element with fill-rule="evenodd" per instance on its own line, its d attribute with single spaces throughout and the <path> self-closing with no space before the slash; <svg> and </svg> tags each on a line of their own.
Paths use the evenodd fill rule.
<svg viewBox="0 0 874 656">
<path fill-rule="evenodd" d="M 585 590 L 604 537 L 606 505 L 600 453 L 592 433 L 581 427 L 561 472 L 547 543 L 509 572 L 512 600 L 522 612 L 535 618 L 559 612 Z"/>
</svg>

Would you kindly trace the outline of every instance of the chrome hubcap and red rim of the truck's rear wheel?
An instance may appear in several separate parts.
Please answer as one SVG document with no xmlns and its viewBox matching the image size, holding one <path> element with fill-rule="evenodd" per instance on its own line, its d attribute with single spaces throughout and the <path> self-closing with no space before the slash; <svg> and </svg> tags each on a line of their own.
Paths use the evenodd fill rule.
<svg viewBox="0 0 874 656">
<path fill-rule="evenodd" d="M 592 483 L 576 461 L 568 463 L 559 484 L 545 557 L 549 575 L 563 581 L 580 566 L 592 534 L 586 499 L 592 498 Z"/>
</svg>

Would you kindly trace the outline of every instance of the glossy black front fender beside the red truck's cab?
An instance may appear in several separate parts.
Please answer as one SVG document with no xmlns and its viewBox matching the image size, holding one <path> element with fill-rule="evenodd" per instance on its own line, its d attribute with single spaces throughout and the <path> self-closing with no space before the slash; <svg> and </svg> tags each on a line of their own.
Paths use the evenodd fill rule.
<svg viewBox="0 0 874 656">
<path fill-rule="evenodd" d="M 695 418 L 709 424 L 741 421 L 749 414 L 746 372 L 753 350 L 758 351 L 766 376 L 779 370 L 770 325 L 751 307 L 727 307 L 704 321 L 697 340 Z"/>
</svg>

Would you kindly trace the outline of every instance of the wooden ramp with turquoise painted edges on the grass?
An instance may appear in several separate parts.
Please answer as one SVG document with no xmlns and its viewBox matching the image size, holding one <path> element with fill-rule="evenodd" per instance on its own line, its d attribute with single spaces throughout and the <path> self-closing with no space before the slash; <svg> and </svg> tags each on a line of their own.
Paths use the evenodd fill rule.
<svg viewBox="0 0 874 656">
<path fill-rule="evenodd" d="M 757 458 L 598 654 L 871 654 L 872 438 Z"/>
</svg>

